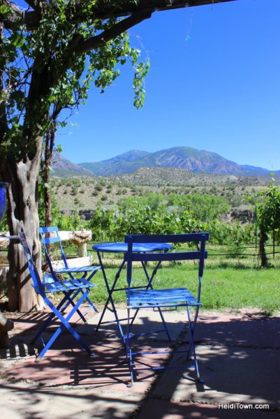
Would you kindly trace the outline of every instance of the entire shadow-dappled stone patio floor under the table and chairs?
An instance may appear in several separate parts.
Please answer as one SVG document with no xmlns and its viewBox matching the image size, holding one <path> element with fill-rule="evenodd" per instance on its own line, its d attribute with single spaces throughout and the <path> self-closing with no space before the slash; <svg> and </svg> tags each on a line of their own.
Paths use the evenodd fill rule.
<svg viewBox="0 0 280 419">
<path fill-rule="evenodd" d="M 119 309 L 119 316 L 126 310 Z M 186 349 L 185 313 L 165 312 L 175 348 Z M 96 334 L 100 314 L 89 311 L 87 325 L 73 325 L 87 341 L 88 356 L 71 335 L 64 334 L 40 362 L 34 362 L 30 341 L 47 314 L 15 316 L 10 349 L 0 350 L 1 419 L 129 418 L 129 419 L 274 419 L 280 414 L 280 318 L 265 318 L 256 311 L 217 313 L 202 311 L 196 330 L 197 353 L 203 385 L 196 384 L 193 369 L 184 367 L 184 354 L 174 355 L 167 369 L 156 375 L 141 371 L 132 388 L 124 346 L 114 323 Z M 112 320 L 112 314 L 106 314 Z M 143 310 L 134 332 L 145 325 L 161 328 L 159 313 Z M 45 337 L 50 337 L 46 333 Z M 136 350 L 164 350 L 165 332 L 135 342 Z M 38 351 L 38 347 L 35 347 Z M 135 365 L 162 365 L 168 354 L 136 358 Z M 158 363 L 160 362 L 160 363 Z M 2 403 L 3 401 L 3 403 Z M 218 409 L 219 404 L 267 403 L 270 411 Z"/>
</svg>

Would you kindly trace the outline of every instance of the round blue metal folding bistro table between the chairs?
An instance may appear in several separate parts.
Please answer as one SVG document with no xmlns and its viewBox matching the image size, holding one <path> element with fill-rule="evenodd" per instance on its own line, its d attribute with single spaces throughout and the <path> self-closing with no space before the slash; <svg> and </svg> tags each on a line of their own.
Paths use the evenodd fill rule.
<svg viewBox="0 0 280 419">
<path fill-rule="evenodd" d="M 98 329 L 100 327 L 101 324 L 105 324 L 105 323 L 116 323 L 117 322 L 117 328 L 119 329 L 119 333 L 121 335 L 121 339 L 124 341 L 125 344 L 125 338 L 124 338 L 124 332 L 121 328 L 121 321 L 125 321 L 127 320 L 126 318 L 121 318 L 119 319 L 118 315 L 117 315 L 117 310 L 115 307 L 115 302 L 114 299 L 112 297 L 112 293 L 115 293 L 116 291 L 126 291 L 127 288 L 116 288 L 117 286 L 117 281 L 119 279 L 119 275 L 121 274 L 121 270 L 124 267 L 124 264 L 126 263 L 125 258 L 122 260 L 121 265 L 119 267 L 119 270 L 117 271 L 117 274 L 115 275 L 115 279 L 112 283 L 112 287 L 110 288 L 109 282 L 108 282 L 108 278 L 107 275 L 105 273 L 105 269 L 102 263 L 102 257 L 101 257 L 101 253 L 126 253 L 128 250 L 128 244 L 127 243 L 101 243 L 101 244 L 95 244 L 92 249 L 94 251 L 96 251 L 97 256 L 98 256 L 98 260 L 99 260 L 99 265 L 101 266 L 101 270 L 103 273 L 103 278 L 105 281 L 105 286 L 107 288 L 107 292 L 108 292 L 108 299 L 105 302 L 105 307 L 102 311 L 101 314 L 101 318 L 98 322 L 98 325 L 96 327 L 96 332 L 98 332 Z M 169 249 L 172 249 L 172 244 L 168 244 L 168 243 L 133 243 L 133 252 L 135 253 L 145 253 L 145 252 L 151 252 L 151 251 L 168 251 Z M 152 281 L 154 279 L 154 276 L 156 275 L 156 271 L 159 269 L 159 266 L 161 265 L 161 262 L 156 264 L 156 267 L 154 267 L 154 270 L 152 271 L 151 276 L 149 277 L 149 273 L 147 272 L 147 267 L 145 266 L 145 263 L 142 262 L 142 268 L 145 272 L 145 277 L 147 279 L 147 284 L 143 285 L 143 286 L 137 286 L 135 287 L 135 289 L 137 288 L 142 288 L 142 289 L 152 289 Z M 111 308 L 109 307 L 109 304 L 111 305 Z M 113 321 L 102 321 L 103 320 L 103 316 L 105 314 L 106 310 L 110 310 L 112 311 L 112 313 L 114 313 L 115 315 L 115 320 Z M 135 320 L 135 317 L 138 314 L 138 310 L 135 311 L 135 314 L 131 320 L 131 324 L 133 323 L 133 321 Z M 170 339 L 170 335 L 168 333 L 168 330 L 166 328 L 165 325 L 165 321 L 163 318 L 163 314 L 161 313 L 161 309 L 159 309 L 159 314 L 161 316 L 161 320 L 163 321 L 163 325 L 165 328 L 165 331 L 168 334 L 168 337 Z M 171 339 L 170 339 L 171 340 Z"/>
</svg>

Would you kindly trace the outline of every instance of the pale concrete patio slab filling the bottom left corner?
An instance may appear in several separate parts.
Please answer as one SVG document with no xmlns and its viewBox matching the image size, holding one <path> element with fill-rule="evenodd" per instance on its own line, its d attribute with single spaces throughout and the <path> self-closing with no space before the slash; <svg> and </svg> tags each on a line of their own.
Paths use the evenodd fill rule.
<svg viewBox="0 0 280 419">
<path fill-rule="evenodd" d="M 140 395 L 108 390 L 46 390 L 0 381 L 1 419 L 128 418 Z"/>
</svg>

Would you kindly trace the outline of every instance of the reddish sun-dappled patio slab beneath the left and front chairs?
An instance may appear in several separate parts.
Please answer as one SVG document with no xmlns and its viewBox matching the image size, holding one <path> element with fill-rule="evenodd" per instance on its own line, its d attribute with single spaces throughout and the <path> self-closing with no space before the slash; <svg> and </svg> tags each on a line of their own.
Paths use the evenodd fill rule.
<svg viewBox="0 0 280 419">
<path fill-rule="evenodd" d="M 91 388 L 111 388 L 124 390 L 126 392 L 137 392 L 145 394 L 147 389 L 154 381 L 154 372 L 150 369 L 142 371 L 139 380 L 133 386 L 133 389 L 127 388 L 130 383 L 130 373 L 124 355 L 124 348 L 119 342 L 103 341 L 98 346 L 95 356 L 89 356 L 80 348 L 69 350 L 73 340 L 71 337 L 64 337 L 64 347 L 50 349 L 47 355 L 35 362 L 35 356 L 29 356 L 25 359 L 15 360 L 10 365 L 6 373 L 2 373 L 2 378 L 15 382 L 37 383 L 41 387 L 58 387 L 70 385 L 74 387 Z M 96 345 L 91 345 L 95 349 Z M 162 350 L 162 345 L 158 342 L 153 346 L 156 350 Z M 143 351 L 151 351 L 151 346 L 142 346 Z M 145 356 L 141 358 L 141 366 L 161 365 L 168 355 Z"/>
</svg>

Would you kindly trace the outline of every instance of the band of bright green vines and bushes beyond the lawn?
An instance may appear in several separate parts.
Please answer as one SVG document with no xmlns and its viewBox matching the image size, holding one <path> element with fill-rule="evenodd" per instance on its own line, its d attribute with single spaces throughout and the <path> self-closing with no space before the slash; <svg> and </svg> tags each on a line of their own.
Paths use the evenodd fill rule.
<svg viewBox="0 0 280 419">
<path fill-rule="evenodd" d="M 115 211 L 97 208 L 88 225 L 92 230 L 92 237 L 96 241 L 103 241 L 121 240 L 126 234 L 209 231 L 212 244 L 240 246 L 253 242 L 253 225 L 228 224 L 219 220 L 222 208 L 228 209 L 222 198 L 215 199 L 216 197 L 213 196 L 199 195 L 176 196 L 174 194 L 174 197 L 168 202 L 174 204 L 176 197 L 179 200 L 182 198 L 182 206 L 170 206 L 165 202 L 166 197 L 163 195 L 150 193 L 137 199 L 126 198 Z M 212 212 L 208 212 L 211 202 L 216 203 L 217 207 L 214 205 Z"/>
</svg>

